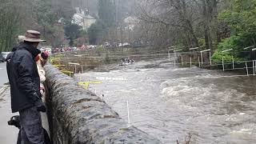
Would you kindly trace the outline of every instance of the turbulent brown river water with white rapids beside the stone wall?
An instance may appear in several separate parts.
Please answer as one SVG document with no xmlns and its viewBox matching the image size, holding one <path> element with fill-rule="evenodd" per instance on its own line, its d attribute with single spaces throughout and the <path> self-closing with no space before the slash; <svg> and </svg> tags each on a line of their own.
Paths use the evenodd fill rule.
<svg viewBox="0 0 256 144">
<path fill-rule="evenodd" d="M 81 78 L 79 78 L 81 77 Z M 78 74 L 130 125 L 163 143 L 256 142 L 256 78 L 157 60 Z"/>
</svg>

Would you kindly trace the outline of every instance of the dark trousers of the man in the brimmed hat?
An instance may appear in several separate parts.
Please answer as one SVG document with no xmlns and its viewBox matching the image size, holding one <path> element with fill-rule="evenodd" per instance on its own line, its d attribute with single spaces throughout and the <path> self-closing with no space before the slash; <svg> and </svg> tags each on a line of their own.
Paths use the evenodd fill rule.
<svg viewBox="0 0 256 144">
<path fill-rule="evenodd" d="M 41 114 L 36 107 L 19 112 L 22 144 L 44 144 Z"/>
</svg>

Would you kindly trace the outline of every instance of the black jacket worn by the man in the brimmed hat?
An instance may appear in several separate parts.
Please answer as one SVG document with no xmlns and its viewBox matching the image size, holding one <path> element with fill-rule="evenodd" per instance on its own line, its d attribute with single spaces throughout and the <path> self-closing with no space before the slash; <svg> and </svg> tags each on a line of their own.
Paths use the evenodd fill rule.
<svg viewBox="0 0 256 144">
<path fill-rule="evenodd" d="M 14 49 L 6 58 L 13 113 L 42 103 L 39 98 L 40 78 L 34 61 L 40 50 L 25 43 Z"/>
</svg>

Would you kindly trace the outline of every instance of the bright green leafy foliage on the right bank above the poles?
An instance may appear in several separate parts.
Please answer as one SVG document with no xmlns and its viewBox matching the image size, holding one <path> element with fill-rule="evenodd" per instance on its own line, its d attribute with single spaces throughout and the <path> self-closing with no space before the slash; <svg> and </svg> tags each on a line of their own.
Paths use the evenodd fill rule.
<svg viewBox="0 0 256 144">
<path fill-rule="evenodd" d="M 242 54 L 243 48 L 255 45 L 256 38 L 256 1 L 230 0 L 230 7 L 219 14 L 219 21 L 226 22 L 230 27 L 231 37 L 218 43 L 218 50 L 213 55 L 214 61 L 230 61 L 232 55 L 235 60 L 247 59 Z M 232 52 L 222 54 L 223 50 L 233 49 Z"/>
</svg>

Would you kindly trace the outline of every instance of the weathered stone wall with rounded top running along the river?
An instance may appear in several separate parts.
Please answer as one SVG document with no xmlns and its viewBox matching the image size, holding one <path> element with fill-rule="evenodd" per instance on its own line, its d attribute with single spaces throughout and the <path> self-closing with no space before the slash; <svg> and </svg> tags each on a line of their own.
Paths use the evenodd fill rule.
<svg viewBox="0 0 256 144">
<path fill-rule="evenodd" d="M 77 86 L 54 66 L 45 66 L 54 144 L 161 143 L 127 123 L 101 98 Z"/>
</svg>

